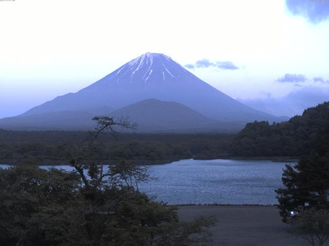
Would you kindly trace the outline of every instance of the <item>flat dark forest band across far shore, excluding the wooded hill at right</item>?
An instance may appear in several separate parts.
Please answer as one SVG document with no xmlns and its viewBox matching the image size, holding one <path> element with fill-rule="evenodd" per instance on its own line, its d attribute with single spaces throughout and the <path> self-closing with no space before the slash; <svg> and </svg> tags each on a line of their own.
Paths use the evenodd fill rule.
<svg viewBox="0 0 329 246">
<path fill-rule="evenodd" d="M 87 145 L 87 132 L 0 130 L 0 162 L 28 161 L 39 165 L 68 164 L 65 151 L 74 144 Z M 229 156 L 229 134 L 102 134 L 91 159 L 112 163 L 120 159 L 138 164 L 166 163 L 179 159 Z"/>
</svg>

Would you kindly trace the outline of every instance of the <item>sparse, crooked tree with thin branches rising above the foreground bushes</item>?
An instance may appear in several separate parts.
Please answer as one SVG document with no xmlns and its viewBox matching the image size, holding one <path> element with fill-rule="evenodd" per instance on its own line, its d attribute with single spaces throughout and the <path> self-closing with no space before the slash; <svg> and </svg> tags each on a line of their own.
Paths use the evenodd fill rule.
<svg viewBox="0 0 329 246">
<path fill-rule="evenodd" d="M 110 134 L 116 138 L 118 129 L 135 129 L 137 124 L 132 124 L 128 118 L 114 119 L 109 116 L 97 116 L 93 120 L 97 122 L 95 131 L 90 132 L 87 144 L 78 143 L 63 147 L 63 150 L 70 157 L 70 165 L 79 173 L 86 190 L 101 188 L 102 182 L 107 180 L 118 185 L 122 182 L 127 187 L 135 187 L 138 190 L 138 182 L 151 179 L 146 167 L 140 167 L 126 161 L 119 161 L 107 171 L 104 170 L 103 163 L 97 160 L 90 160 L 95 153 L 93 146 L 101 134 Z"/>
</svg>

